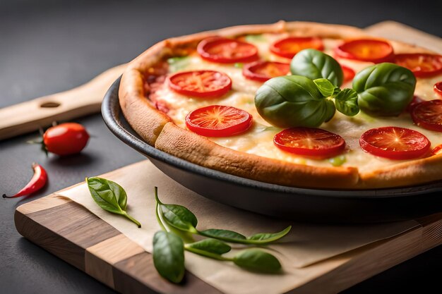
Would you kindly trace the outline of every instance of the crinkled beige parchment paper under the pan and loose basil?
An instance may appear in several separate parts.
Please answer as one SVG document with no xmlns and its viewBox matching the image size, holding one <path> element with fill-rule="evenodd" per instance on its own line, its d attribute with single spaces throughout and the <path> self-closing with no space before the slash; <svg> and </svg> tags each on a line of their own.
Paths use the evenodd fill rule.
<svg viewBox="0 0 442 294">
<path fill-rule="evenodd" d="M 292 231 L 281 243 L 268 246 L 280 259 L 283 274 L 251 273 L 229 262 L 186 252 L 186 269 L 225 293 L 284 293 L 317 276 L 318 272 L 311 270 L 316 267 L 315 263 L 419 226 L 416 221 L 357 226 L 278 221 L 207 200 L 165 176 L 150 161 L 142 161 L 102 177 L 116 181 L 126 190 L 128 213 L 141 222 L 141 228 L 122 216 L 110 214 L 98 207 L 84 183 L 63 190 L 59 195 L 82 204 L 148 252 L 152 252 L 153 234 L 160 230 L 155 219 L 155 186 L 158 187 L 162 202 L 184 205 L 196 214 L 200 230 L 226 228 L 251 235 L 281 231 L 292 225 Z"/>
</svg>

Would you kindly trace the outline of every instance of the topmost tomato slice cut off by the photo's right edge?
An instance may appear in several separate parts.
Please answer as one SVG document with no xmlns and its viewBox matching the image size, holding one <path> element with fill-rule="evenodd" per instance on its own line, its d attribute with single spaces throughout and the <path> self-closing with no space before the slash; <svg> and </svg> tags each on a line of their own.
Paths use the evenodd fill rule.
<svg viewBox="0 0 442 294">
<path fill-rule="evenodd" d="M 437 54 L 397 54 L 395 63 L 410 69 L 417 77 L 431 77 L 442 73 L 442 56 Z"/>
</svg>

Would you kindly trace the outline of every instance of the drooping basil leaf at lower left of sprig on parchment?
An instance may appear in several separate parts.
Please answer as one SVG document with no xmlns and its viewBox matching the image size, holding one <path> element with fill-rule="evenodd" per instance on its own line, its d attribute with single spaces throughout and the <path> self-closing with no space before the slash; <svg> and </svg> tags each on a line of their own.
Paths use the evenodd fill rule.
<svg viewBox="0 0 442 294">
<path fill-rule="evenodd" d="M 184 277 L 184 243 L 174 233 L 158 231 L 153 236 L 153 264 L 158 273 L 172 283 Z"/>
</svg>

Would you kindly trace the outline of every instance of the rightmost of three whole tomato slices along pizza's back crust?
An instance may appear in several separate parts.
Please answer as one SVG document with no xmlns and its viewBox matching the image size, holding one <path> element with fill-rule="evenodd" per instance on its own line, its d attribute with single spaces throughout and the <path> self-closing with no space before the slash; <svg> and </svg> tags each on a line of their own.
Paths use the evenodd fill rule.
<svg viewBox="0 0 442 294">
<path fill-rule="evenodd" d="M 374 63 L 393 60 L 393 47 L 380 39 L 352 39 L 336 47 L 335 54 L 344 59 Z"/>
</svg>

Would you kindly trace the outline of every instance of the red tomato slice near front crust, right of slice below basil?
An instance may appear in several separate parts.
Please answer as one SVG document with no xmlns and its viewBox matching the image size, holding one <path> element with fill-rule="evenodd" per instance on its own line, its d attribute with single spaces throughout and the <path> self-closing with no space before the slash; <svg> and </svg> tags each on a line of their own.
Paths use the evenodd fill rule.
<svg viewBox="0 0 442 294">
<path fill-rule="evenodd" d="M 419 158 L 430 149 L 430 141 L 424 135 L 399 127 L 367 130 L 360 137 L 359 145 L 365 152 L 395 160 Z"/>
</svg>

